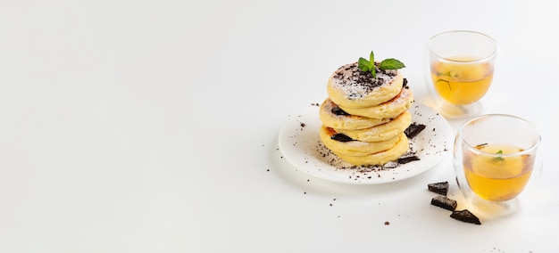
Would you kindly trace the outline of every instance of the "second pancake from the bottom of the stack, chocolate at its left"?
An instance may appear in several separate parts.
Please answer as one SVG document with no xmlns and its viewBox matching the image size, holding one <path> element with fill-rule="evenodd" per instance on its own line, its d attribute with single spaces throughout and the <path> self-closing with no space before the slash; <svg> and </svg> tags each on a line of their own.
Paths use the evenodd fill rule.
<svg viewBox="0 0 559 253">
<path fill-rule="evenodd" d="M 327 148 L 331 151 L 347 156 L 365 156 L 371 153 L 386 151 L 392 148 L 400 139 L 399 136 L 396 136 L 392 139 L 375 143 L 366 143 L 361 141 L 340 142 L 332 139 L 332 136 L 338 133 L 336 130 L 328 126 L 322 126 L 320 134 L 321 141 Z"/>
</svg>

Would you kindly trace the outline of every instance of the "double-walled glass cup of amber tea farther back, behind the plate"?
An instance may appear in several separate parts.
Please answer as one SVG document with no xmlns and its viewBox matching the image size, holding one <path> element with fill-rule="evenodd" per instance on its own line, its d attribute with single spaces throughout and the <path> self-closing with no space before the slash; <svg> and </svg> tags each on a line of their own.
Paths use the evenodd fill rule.
<svg viewBox="0 0 559 253">
<path fill-rule="evenodd" d="M 430 38 L 425 81 L 436 110 L 447 118 L 480 114 L 493 82 L 498 47 L 485 34 L 456 30 Z"/>
</svg>

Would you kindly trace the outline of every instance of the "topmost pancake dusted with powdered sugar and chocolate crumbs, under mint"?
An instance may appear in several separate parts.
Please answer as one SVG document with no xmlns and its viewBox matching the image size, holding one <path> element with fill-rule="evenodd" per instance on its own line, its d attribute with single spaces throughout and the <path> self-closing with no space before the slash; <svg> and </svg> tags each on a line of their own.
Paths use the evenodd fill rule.
<svg viewBox="0 0 559 253">
<path fill-rule="evenodd" d="M 340 107 L 368 108 L 387 102 L 400 93 L 404 76 L 397 69 L 377 69 L 377 77 L 363 72 L 357 62 L 346 64 L 332 74 L 327 92 Z M 352 113 L 353 114 L 353 113 Z"/>
</svg>

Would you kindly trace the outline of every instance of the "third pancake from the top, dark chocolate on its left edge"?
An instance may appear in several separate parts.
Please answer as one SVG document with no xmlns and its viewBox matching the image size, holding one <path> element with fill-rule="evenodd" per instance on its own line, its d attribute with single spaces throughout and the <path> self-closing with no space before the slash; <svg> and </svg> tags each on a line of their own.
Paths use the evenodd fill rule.
<svg viewBox="0 0 559 253">
<path fill-rule="evenodd" d="M 366 118 L 346 113 L 330 99 L 326 99 L 321 104 L 319 116 L 324 126 L 336 129 L 357 130 L 379 126 L 387 123 L 391 118 Z"/>
</svg>

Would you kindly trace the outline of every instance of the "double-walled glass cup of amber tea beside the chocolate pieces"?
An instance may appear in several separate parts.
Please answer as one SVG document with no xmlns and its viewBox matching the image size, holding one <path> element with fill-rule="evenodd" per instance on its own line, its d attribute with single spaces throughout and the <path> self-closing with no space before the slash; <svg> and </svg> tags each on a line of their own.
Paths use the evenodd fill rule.
<svg viewBox="0 0 559 253">
<path fill-rule="evenodd" d="M 466 121 L 455 138 L 456 181 L 472 208 L 505 215 L 519 208 L 517 197 L 538 176 L 541 142 L 536 126 L 505 114 Z"/>
</svg>

